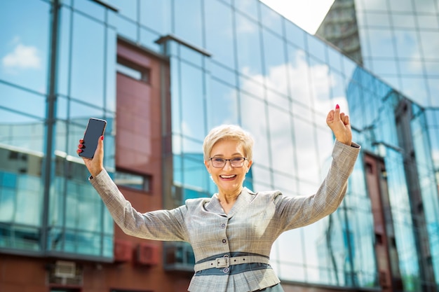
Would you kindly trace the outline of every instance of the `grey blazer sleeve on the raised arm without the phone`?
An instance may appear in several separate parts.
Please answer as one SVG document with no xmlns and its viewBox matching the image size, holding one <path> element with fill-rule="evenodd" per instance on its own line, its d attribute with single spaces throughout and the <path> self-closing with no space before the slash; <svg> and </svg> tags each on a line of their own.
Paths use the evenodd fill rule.
<svg viewBox="0 0 439 292">
<path fill-rule="evenodd" d="M 360 146 L 335 141 L 332 162 L 317 193 L 309 196 L 288 197 L 276 192 L 274 202 L 281 232 L 314 223 L 332 214 L 342 203 L 348 178 L 353 171 Z"/>
</svg>

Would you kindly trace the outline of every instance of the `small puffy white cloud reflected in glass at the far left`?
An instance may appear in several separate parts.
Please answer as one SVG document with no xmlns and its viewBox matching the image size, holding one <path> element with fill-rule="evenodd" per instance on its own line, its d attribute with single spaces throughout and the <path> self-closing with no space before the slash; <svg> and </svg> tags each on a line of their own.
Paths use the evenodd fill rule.
<svg viewBox="0 0 439 292">
<path fill-rule="evenodd" d="M 1 64 L 9 69 L 40 69 L 41 59 L 37 48 L 19 43 L 13 52 L 3 57 Z"/>
</svg>

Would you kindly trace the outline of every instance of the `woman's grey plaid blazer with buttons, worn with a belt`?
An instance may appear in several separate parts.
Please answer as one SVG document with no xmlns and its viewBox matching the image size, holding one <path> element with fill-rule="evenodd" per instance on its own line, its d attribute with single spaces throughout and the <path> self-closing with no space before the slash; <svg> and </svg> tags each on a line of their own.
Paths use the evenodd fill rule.
<svg viewBox="0 0 439 292">
<path fill-rule="evenodd" d="M 288 197 L 278 190 L 253 193 L 244 188 L 234 207 L 225 214 L 217 194 L 187 200 L 172 210 L 136 211 L 107 172 L 90 183 L 95 187 L 114 221 L 128 235 L 145 239 L 189 242 L 196 263 L 235 253 L 270 256 L 271 245 L 286 230 L 318 221 L 341 204 L 348 177 L 360 152 L 358 144 L 335 141 L 332 164 L 314 195 Z M 280 280 L 270 265 L 248 265 L 238 272 L 196 272 L 188 291 L 257 291 Z M 233 270 L 231 266 L 230 270 Z M 229 270 L 227 270 L 229 271 Z"/>
</svg>

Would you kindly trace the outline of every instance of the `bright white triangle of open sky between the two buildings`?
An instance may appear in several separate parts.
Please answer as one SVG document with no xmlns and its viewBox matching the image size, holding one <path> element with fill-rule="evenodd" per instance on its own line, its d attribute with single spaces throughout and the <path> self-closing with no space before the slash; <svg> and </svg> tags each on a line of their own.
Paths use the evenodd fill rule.
<svg viewBox="0 0 439 292">
<path fill-rule="evenodd" d="M 288 20 L 315 34 L 334 0 L 260 0 Z"/>
</svg>

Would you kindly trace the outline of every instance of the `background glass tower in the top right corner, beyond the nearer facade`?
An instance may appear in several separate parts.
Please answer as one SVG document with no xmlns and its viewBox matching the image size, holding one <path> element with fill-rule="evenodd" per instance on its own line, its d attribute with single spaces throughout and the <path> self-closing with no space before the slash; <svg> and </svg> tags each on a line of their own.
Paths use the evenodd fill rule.
<svg viewBox="0 0 439 292">
<path fill-rule="evenodd" d="M 439 106 L 438 0 L 335 0 L 316 34 L 421 106 Z"/>
</svg>

